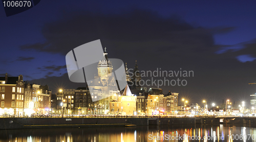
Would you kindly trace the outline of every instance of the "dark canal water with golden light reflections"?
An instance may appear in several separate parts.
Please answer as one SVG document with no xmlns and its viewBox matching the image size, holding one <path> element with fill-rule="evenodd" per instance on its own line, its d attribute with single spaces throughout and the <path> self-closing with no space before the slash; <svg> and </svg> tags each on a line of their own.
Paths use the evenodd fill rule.
<svg viewBox="0 0 256 142">
<path fill-rule="evenodd" d="M 1 141 L 256 141 L 256 128 L 178 125 L 0 130 Z"/>
</svg>

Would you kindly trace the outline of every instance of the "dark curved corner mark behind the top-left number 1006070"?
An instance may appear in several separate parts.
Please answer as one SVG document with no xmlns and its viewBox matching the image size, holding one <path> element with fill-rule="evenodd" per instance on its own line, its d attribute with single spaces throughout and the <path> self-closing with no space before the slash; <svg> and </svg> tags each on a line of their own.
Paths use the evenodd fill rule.
<svg viewBox="0 0 256 142">
<path fill-rule="evenodd" d="M 12 16 L 36 6 L 40 0 L 2 0 L 6 16 Z"/>
</svg>

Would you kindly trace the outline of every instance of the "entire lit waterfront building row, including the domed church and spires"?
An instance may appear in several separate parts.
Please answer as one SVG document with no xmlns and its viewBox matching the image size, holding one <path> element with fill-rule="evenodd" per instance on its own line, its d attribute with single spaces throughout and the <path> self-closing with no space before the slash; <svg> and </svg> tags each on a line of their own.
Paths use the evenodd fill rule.
<svg viewBox="0 0 256 142">
<path fill-rule="evenodd" d="M 129 75 L 125 66 L 124 77 L 127 85 L 121 91 L 113 75 L 112 62 L 108 59 L 106 48 L 97 66 L 97 75 L 91 82 L 87 82 L 87 87 L 62 89 L 52 95 L 48 86 L 30 84 L 23 80 L 22 75 L 8 77 L 6 73 L 4 77 L 0 77 L 0 114 L 157 115 L 171 114 L 178 110 L 178 93 L 169 92 L 163 95 L 161 89 L 147 90 L 140 86 L 141 77 L 137 61 L 133 76 Z"/>
</svg>

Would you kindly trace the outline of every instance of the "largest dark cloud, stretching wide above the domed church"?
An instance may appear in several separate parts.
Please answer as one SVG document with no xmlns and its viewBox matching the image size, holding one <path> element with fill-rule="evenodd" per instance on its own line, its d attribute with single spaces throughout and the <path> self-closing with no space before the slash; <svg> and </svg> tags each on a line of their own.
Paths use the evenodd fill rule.
<svg viewBox="0 0 256 142">
<path fill-rule="evenodd" d="M 178 18 L 162 18 L 145 10 L 105 15 L 102 13 L 70 12 L 42 28 L 45 43 L 27 44 L 20 49 L 33 49 L 66 55 L 73 48 L 100 39 L 103 45 L 130 50 L 209 51 L 216 50 L 212 33 L 231 31 L 233 27 L 205 29 L 193 27 Z M 184 49 L 186 48 L 186 49 Z"/>
</svg>

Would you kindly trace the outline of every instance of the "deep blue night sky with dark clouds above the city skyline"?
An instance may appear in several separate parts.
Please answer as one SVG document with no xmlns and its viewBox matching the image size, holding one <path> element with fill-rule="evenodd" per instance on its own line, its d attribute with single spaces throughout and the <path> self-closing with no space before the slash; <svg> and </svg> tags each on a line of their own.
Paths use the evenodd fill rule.
<svg viewBox="0 0 256 142">
<path fill-rule="evenodd" d="M 109 58 L 140 71 L 194 71 L 186 86 L 161 86 L 189 103 L 246 101 L 256 93 L 254 1 L 41 1 L 6 17 L 0 6 L 0 75 L 22 74 L 30 83 L 76 89 L 66 54 L 101 40 Z M 177 80 L 178 77 L 166 79 Z M 151 77 L 142 77 L 143 80 Z M 154 77 L 163 79 L 163 77 Z M 156 86 L 144 86 L 147 89 Z"/>
</svg>

